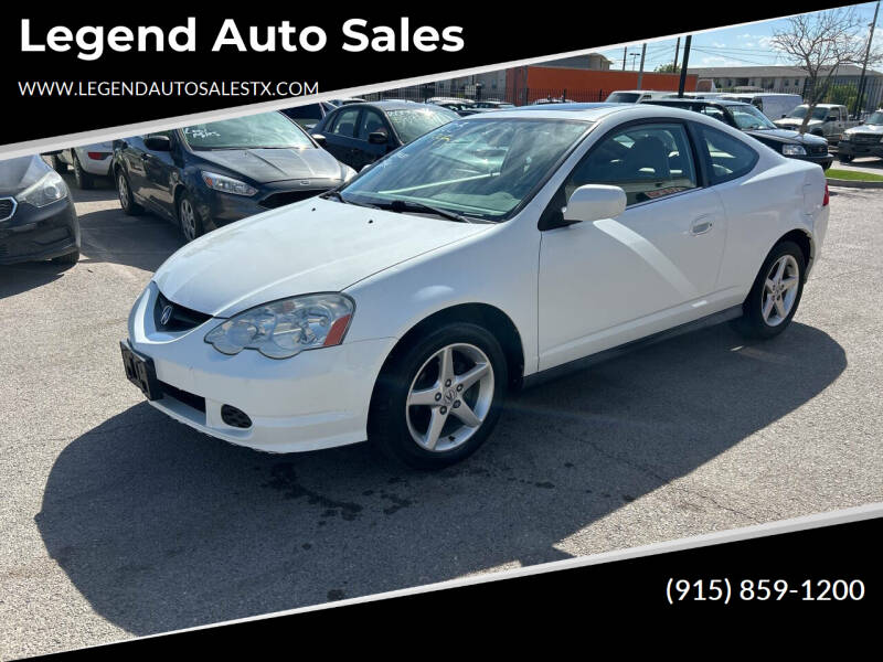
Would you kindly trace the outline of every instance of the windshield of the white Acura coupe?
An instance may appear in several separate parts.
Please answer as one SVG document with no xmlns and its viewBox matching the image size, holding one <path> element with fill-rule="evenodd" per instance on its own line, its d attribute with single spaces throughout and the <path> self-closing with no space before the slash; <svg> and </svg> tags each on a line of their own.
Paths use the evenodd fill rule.
<svg viewBox="0 0 883 662">
<path fill-rule="evenodd" d="M 381 207 L 430 205 L 502 221 L 588 130 L 558 119 L 459 119 L 403 147 L 341 190 Z"/>
</svg>

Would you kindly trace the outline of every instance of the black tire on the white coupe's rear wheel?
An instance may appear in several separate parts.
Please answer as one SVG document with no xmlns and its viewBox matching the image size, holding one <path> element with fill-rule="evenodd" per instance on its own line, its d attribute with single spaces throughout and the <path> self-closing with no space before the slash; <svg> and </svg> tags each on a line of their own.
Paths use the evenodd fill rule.
<svg viewBox="0 0 883 662">
<path fill-rule="evenodd" d="M 787 263 L 786 260 L 786 276 L 797 278 L 797 284 L 794 286 L 797 291 L 794 293 L 790 306 L 787 307 L 787 297 L 789 292 L 779 290 L 778 299 L 786 305 L 785 310 L 787 312 L 787 314 L 783 317 L 778 313 L 778 307 L 775 305 L 776 297 L 772 296 L 766 281 L 767 277 L 770 276 L 770 270 L 774 265 L 777 265 L 779 260 L 786 258 L 786 256 L 790 256 L 792 259 L 792 263 Z M 796 276 L 794 274 L 788 274 L 790 270 L 789 264 L 795 265 L 797 271 Z M 797 308 L 800 305 L 800 298 L 804 295 L 805 274 L 806 259 L 804 258 L 804 252 L 800 249 L 800 246 L 789 241 L 776 244 L 764 260 L 760 270 L 757 273 L 757 277 L 754 279 L 752 290 L 742 305 L 743 316 L 736 320 L 736 329 L 748 338 L 759 339 L 774 338 L 785 331 L 791 323 Z M 769 303 L 770 298 L 774 303 L 772 307 L 773 312 L 769 313 L 769 318 L 765 319 L 764 306 Z"/>
</svg>

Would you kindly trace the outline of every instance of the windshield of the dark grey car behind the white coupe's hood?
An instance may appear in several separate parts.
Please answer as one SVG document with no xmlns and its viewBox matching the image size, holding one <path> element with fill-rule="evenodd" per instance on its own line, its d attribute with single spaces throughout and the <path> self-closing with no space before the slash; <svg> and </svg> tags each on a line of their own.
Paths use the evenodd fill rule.
<svg viewBox="0 0 883 662">
<path fill-rule="evenodd" d="M 181 129 L 192 149 L 304 149 L 312 142 L 280 113 L 266 113 L 222 121 L 208 121 Z"/>
</svg>

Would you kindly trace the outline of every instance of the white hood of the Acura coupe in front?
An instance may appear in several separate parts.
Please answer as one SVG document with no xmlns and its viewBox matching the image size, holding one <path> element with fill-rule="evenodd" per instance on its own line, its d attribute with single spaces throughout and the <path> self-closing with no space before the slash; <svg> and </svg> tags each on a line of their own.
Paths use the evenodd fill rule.
<svg viewBox="0 0 883 662">
<path fill-rule="evenodd" d="M 225 318 L 285 297 L 342 291 L 490 227 L 313 197 L 191 242 L 153 281 L 174 303 Z"/>
</svg>

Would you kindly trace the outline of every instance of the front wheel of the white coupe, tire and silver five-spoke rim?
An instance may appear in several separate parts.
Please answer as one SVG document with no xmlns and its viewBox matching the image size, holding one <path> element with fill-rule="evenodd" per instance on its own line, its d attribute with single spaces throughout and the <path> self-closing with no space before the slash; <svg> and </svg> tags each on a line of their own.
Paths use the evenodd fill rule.
<svg viewBox="0 0 883 662">
<path fill-rule="evenodd" d="M 369 438 L 411 467 L 459 462 L 490 436 L 507 383 L 506 357 L 493 335 L 472 323 L 445 325 L 384 366 Z"/>
</svg>

